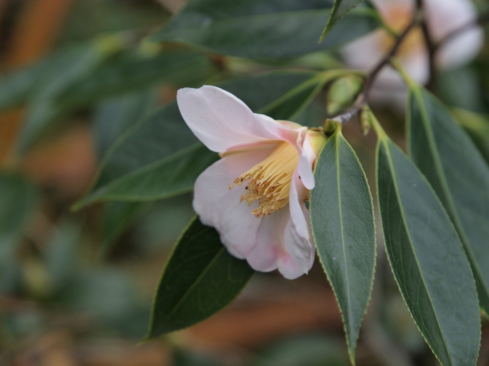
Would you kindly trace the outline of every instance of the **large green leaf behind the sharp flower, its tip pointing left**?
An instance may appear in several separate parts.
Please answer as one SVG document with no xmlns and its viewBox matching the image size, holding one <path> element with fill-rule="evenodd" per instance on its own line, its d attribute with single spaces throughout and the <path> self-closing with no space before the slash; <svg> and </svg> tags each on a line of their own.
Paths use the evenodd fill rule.
<svg viewBox="0 0 489 366">
<path fill-rule="evenodd" d="M 289 119 L 330 74 L 277 73 L 222 85 L 260 113 Z M 334 74 L 335 75 L 335 74 Z M 290 89 L 284 89 L 287 86 Z M 176 103 L 162 107 L 117 140 L 80 208 L 97 201 L 152 201 L 190 191 L 198 175 L 217 160 L 186 127 Z"/>
</svg>

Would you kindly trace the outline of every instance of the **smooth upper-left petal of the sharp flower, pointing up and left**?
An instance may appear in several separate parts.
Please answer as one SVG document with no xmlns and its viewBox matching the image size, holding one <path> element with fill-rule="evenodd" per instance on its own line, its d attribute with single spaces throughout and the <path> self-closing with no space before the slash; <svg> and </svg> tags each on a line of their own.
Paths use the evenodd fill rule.
<svg viewBox="0 0 489 366">
<path fill-rule="evenodd" d="M 240 99 L 216 86 L 179 89 L 177 102 L 187 125 L 212 151 L 275 139 L 265 125 L 277 122 L 254 114 Z"/>
</svg>

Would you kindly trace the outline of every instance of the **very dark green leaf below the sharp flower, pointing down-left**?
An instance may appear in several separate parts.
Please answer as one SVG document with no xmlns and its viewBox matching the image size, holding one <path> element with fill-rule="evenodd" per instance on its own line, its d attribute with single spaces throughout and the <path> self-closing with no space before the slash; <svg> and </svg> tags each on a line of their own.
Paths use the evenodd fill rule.
<svg viewBox="0 0 489 366">
<path fill-rule="evenodd" d="M 194 325 L 228 305 L 254 270 L 231 256 L 218 232 L 195 218 L 163 270 L 147 338 Z"/>
</svg>

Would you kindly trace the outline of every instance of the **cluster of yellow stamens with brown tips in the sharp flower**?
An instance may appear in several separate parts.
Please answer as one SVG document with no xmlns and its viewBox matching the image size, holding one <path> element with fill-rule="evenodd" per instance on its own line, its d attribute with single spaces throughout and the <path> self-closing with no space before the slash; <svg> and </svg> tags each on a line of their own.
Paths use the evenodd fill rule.
<svg viewBox="0 0 489 366">
<path fill-rule="evenodd" d="M 289 203 L 290 183 L 298 163 L 299 154 L 295 148 L 289 142 L 281 142 L 267 159 L 236 178 L 229 189 L 247 182 L 240 202 L 246 201 L 250 206 L 258 200 L 258 208 L 251 213 L 263 218 Z"/>
</svg>

